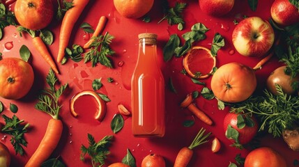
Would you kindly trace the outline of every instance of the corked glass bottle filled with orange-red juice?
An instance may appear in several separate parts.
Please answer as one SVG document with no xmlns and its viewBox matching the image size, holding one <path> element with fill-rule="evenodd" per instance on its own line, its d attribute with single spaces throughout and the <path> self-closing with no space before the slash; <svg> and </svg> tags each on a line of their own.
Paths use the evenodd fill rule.
<svg viewBox="0 0 299 167">
<path fill-rule="evenodd" d="M 132 133 L 162 137 L 165 132 L 164 77 L 157 61 L 157 35 L 141 33 L 139 53 L 131 81 Z"/>
</svg>

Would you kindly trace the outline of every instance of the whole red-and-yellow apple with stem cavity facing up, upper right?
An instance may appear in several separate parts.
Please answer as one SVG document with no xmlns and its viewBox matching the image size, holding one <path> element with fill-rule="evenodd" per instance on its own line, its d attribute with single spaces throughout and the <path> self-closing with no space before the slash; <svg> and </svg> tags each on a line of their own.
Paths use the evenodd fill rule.
<svg viewBox="0 0 299 167">
<path fill-rule="evenodd" d="M 272 47 L 274 31 L 265 19 L 248 17 L 233 29 L 233 46 L 243 56 L 263 56 Z"/>
</svg>

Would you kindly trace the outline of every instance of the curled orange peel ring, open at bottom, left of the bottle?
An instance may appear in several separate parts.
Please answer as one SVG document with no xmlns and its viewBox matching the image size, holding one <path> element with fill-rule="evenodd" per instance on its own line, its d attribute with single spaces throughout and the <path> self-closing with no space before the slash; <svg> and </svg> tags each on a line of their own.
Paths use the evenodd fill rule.
<svg viewBox="0 0 299 167">
<path fill-rule="evenodd" d="M 72 113 L 72 116 L 77 117 L 78 113 L 75 112 L 75 102 L 79 97 L 82 97 L 83 95 L 91 95 L 92 97 L 95 98 L 95 100 L 98 103 L 98 111 L 95 113 L 95 119 L 102 121 L 102 119 L 105 116 L 106 113 L 106 104 L 104 100 L 101 99 L 101 97 L 98 95 L 98 93 L 95 93 L 94 91 L 91 90 L 83 90 L 80 93 L 77 93 L 74 97 L 72 97 L 72 100 L 70 101 L 70 113 Z"/>
</svg>

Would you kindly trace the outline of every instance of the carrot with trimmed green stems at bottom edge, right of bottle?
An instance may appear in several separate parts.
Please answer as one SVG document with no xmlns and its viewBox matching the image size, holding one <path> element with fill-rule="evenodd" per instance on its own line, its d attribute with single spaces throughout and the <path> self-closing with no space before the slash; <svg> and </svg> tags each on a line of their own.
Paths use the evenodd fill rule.
<svg viewBox="0 0 299 167">
<path fill-rule="evenodd" d="M 210 133 L 204 135 L 204 132 L 206 132 L 205 129 L 201 128 L 197 134 L 197 136 L 192 141 L 191 145 L 189 147 L 183 147 L 178 152 L 178 155 L 176 156 L 176 161 L 174 161 L 174 167 L 185 167 L 187 164 L 189 164 L 192 155 L 193 155 L 193 149 L 197 146 L 207 143 L 206 138 L 210 136 Z"/>
</svg>

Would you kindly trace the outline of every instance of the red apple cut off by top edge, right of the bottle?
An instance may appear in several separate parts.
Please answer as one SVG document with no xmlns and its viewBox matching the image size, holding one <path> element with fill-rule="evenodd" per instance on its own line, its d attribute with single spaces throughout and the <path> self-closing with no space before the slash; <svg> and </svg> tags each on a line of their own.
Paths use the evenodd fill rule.
<svg viewBox="0 0 299 167">
<path fill-rule="evenodd" d="M 222 16 L 233 8 L 235 0 L 199 0 L 199 7 L 211 16 Z"/>
</svg>

